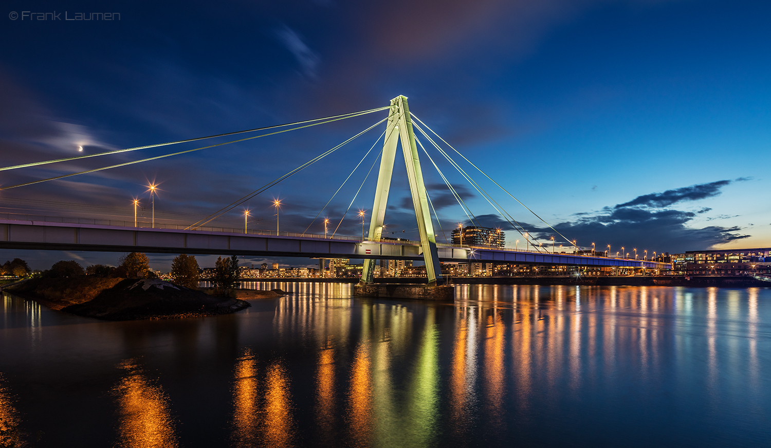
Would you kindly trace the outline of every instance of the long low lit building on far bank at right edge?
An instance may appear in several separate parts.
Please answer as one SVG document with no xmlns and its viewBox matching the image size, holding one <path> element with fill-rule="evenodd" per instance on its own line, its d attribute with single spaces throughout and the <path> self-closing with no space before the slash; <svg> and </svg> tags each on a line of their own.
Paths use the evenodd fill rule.
<svg viewBox="0 0 771 448">
<path fill-rule="evenodd" d="M 684 261 L 687 275 L 771 274 L 771 248 L 686 251 Z"/>
</svg>

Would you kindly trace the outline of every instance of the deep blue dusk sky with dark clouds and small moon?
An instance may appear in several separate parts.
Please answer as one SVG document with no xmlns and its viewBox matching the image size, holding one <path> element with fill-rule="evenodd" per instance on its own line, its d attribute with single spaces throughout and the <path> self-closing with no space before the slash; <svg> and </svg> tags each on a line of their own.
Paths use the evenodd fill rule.
<svg viewBox="0 0 771 448">
<path fill-rule="evenodd" d="M 97 153 L 372 109 L 401 94 L 416 116 L 582 248 L 771 246 L 768 2 L 11 1 L 4 8 L 4 167 L 78 155 L 79 146 Z M 32 12 L 55 11 L 60 20 L 32 20 L 39 17 Z M 65 20 L 79 12 L 119 12 L 120 20 Z M 131 199 L 139 197 L 146 219 L 143 185 L 155 180 L 159 221 L 189 224 L 383 117 L 3 190 L 0 212 L 132 221 Z M 270 203 L 280 197 L 281 230 L 304 231 L 384 129 L 247 201 L 250 227 L 274 228 Z M 8 170 L 0 184 L 199 143 Z M 378 150 L 320 217 L 337 225 Z M 429 160 L 422 163 L 449 236 L 468 220 L 439 189 Z M 483 224 L 503 227 L 511 246 L 522 240 L 448 163 L 440 168 Z M 415 239 L 403 170 L 397 157 L 386 223 Z M 369 217 L 376 173 L 375 166 L 338 232 L 360 234 L 355 212 Z M 482 174 L 468 173 L 541 241 L 554 234 Z M 242 226 L 244 206 L 216 223 Z M 310 231 L 323 233 L 321 221 Z M 114 264 L 117 257 L 0 251 L 16 256 L 40 269 L 62 258 Z M 154 256 L 153 264 L 167 269 L 170 257 Z"/>
</svg>

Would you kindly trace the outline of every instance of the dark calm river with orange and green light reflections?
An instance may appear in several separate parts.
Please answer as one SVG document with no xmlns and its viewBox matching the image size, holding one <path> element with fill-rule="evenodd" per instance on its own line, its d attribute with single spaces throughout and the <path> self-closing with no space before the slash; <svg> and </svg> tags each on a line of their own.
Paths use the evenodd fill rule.
<svg viewBox="0 0 771 448">
<path fill-rule="evenodd" d="M 100 322 L 4 295 L 0 446 L 771 446 L 771 289 L 352 286 Z"/>
</svg>

